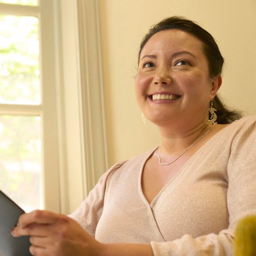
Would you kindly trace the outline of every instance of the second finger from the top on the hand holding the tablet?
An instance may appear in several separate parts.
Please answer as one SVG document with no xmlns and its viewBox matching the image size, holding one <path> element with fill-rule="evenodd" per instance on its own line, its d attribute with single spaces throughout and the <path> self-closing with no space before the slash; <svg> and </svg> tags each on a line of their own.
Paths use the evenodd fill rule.
<svg viewBox="0 0 256 256">
<path fill-rule="evenodd" d="M 51 225 L 47 224 L 29 224 L 24 228 L 17 226 L 11 232 L 12 236 L 48 236 L 51 233 Z"/>
</svg>

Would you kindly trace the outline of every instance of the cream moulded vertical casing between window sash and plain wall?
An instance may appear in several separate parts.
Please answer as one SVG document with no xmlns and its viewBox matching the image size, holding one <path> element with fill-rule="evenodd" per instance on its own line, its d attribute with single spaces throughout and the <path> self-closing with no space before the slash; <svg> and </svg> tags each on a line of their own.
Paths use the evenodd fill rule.
<svg viewBox="0 0 256 256">
<path fill-rule="evenodd" d="M 98 0 L 55 1 L 61 212 L 108 169 Z"/>
</svg>

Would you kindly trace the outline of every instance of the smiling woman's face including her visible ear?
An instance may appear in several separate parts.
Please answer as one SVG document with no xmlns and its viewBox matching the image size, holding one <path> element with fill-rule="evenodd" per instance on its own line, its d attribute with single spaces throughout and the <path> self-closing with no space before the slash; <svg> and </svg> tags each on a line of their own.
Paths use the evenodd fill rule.
<svg viewBox="0 0 256 256">
<path fill-rule="evenodd" d="M 220 84 L 220 76 L 209 76 L 202 42 L 187 32 L 160 31 L 140 53 L 136 98 L 155 124 L 207 120 L 209 101 Z"/>
</svg>

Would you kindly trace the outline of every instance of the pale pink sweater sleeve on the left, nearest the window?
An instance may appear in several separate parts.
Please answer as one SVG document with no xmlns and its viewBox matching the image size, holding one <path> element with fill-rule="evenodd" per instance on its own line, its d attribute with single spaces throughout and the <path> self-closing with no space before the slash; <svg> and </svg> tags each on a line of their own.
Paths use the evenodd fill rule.
<svg viewBox="0 0 256 256">
<path fill-rule="evenodd" d="M 119 162 L 105 172 L 80 207 L 68 215 L 68 217 L 76 220 L 93 237 L 95 237 L 95 230 L 103 210 L 107 179 L 111 173 L 124 163 L 125 161 Z"/>
</svg>

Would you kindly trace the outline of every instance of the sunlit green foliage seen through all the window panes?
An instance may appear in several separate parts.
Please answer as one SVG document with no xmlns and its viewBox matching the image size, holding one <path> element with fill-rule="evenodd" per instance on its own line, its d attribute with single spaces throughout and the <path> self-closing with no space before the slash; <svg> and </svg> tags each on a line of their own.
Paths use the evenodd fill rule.
<svg viewBox="0 0 256 256">
<path fill-rule="evenodd" d="M 0 15 L 0 103 L 40 104 L 36 17 Z M 0 189 L 27 211 L 39 208 L 41 169 L 41 118 L 0 115 Z"/>
</svg>

